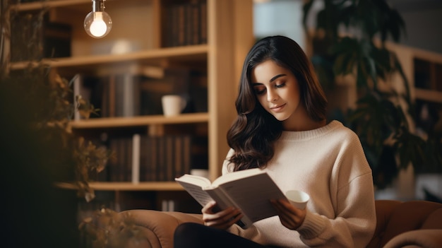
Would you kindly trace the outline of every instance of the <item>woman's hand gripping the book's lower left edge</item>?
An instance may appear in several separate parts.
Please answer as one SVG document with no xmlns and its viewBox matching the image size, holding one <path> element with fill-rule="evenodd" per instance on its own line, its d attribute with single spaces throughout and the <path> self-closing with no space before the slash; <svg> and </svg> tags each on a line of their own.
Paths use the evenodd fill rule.
<svg viewBox="0 0 442 248">
<path fill-rule="evenodd" d="M 223 211 L 215 212 L 215 206 L 216 202 L 210 201 L 205 204 L 201 210 L 201 213 L 203 213 L 204 225 L 226 230 L 243 217 L 241 210 L 238 208 L 230 207 Z"/>
</svg>

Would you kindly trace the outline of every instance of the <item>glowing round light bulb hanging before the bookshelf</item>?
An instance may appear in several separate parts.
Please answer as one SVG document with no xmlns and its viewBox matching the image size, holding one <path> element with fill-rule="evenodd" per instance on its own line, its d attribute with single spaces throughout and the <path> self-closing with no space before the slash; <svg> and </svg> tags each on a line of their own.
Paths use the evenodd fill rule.
<svg viewBox="0 0 442 248">
<path fill-rule="evenodd" d="M 104 12 L 105 0 L 92 0 L 92 11 L 85 17 L 85 30 L 94 38 L 106 36 L 112 29 L 112 19 Z"/>
</svg>

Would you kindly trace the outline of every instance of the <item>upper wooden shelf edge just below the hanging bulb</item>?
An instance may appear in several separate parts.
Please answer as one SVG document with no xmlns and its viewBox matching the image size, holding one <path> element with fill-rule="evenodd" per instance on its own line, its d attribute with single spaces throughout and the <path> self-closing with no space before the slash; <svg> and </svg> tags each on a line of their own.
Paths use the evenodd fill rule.
<svg viewBox="0 0 442 248">
<path fill-rule="evenodd" d="M 208 45 L 189 45 L 184 47 L 165 47 L 159 49 L 148 49 L 127 54 L 100 54 L 83 57 L 68 57 L 42 59 L 42 61 L 20 61 L 10 65 L 11 70 L 25 69 L 28 66 L 44 64 L 50 67 L 75 67 L 94 64 L 114 64 L 121 62 L 149 61 L 157 59 L 174 59 L 179 57 L 195 57 L 196 55 L 207 56 Z"/>
</svg>

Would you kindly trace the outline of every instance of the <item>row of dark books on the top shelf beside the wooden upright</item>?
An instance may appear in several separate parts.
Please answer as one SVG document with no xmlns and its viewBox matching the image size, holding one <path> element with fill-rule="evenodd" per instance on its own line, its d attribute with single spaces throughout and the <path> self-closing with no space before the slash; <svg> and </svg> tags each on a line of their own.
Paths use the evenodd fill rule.
<svg viewBox="0 0 442 248">
<path fill-rule="evenodd" d="M 207 43 L 207 2 L 191 0 L 166 7 L 165 46 Z"/>
</svg>

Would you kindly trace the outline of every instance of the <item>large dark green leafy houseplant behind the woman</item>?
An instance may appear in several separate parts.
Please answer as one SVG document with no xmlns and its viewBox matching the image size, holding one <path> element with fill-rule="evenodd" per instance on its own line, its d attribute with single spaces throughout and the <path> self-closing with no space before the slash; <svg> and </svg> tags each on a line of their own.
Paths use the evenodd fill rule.
<svg viewBox="0 0 442 248">
<path fill-rule="evenodd" d="M 410 85 L 395 53 L 386 47 L 386 42 L 398 42 L 405 30 L 400 13 L 386 0 L 323 1 L 311 28 L 309 14 L 316 2 L 305 1 L 303 9 L 311 59 L 327 92 L 342 76 L 355 83 L 355 107 L 330 113 L 338 113 L 359 135 L 376 187 L 387 187 L 410 164 L 415 170 L 442 168 L 441 131 L 432 131 L 426 140 L 414 134 Z M 402 78 L 403 90 L 389 81 L 392 73 Z"/>
</svg>

